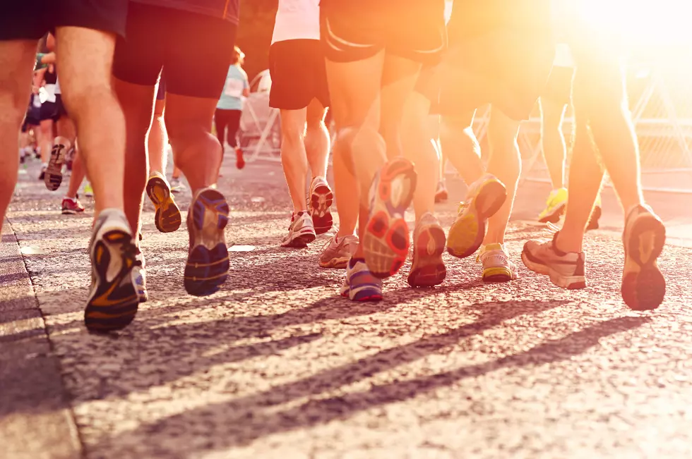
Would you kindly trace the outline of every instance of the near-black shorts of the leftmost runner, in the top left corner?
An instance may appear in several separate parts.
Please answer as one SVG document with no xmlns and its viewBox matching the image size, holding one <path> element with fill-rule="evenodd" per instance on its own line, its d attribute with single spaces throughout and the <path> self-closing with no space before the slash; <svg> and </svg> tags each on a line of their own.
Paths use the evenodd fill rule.
<svg viewBox="0 0 692 459">
<path fill-rule="evenodd" d="M 3 0 L 0 40 L 40 39 L 56 27 L 125 33 L 129 0 Z"/>
</svg>

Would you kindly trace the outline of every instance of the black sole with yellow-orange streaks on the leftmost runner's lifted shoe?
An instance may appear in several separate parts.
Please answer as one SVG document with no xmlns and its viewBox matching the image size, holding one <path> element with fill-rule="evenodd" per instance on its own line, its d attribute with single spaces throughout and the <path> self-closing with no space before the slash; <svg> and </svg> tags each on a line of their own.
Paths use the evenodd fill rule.
<svg viewBox="0 0 692 459">
<path fill-rule="evenodd" d="M 132 236 L 121 230 L 107 231 L 103 240 L 107 243 L 120 245 L 133 245 Z M 108 253 L 102 250 L 101 253 Z M 94 264 L 100 264 L 94 260 Z M 137 314 L 140 302 L 137 294 L 137 286 L 132 281 L 132 269 L 134 257 L 125 261 L 124 267 L 110 282 L 102 281 L 106 278 L 108 267 L 103 272 L 98 272 L 99 284 L 95 295 L 89 298 L 84 311 L 84 324 L 89 331 L 105 333 L 124 329 L 131 324 Z M 129 279 L 129 283 L 124 283 Z"/>
</svg>

